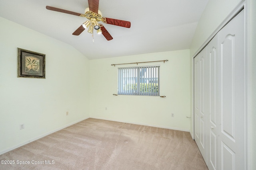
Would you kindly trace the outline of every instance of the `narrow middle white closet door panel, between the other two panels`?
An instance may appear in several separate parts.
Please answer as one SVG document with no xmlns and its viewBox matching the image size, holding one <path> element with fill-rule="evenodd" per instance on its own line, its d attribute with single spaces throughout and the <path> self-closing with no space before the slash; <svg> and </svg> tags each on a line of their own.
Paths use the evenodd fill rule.
<svg viewBox="0 0 256 170">
<path fill-rule="evenodd" d="M 217 103 L 218 103 L 218 89 L 217 89 L 217 59 L 218 59 L 218 37 L 217 35 L 210 41 L 207 45 L 207 111 L 208 111 L 208 121 L 207 121 L 207 165 L 209 170 L 217 170 L 217 158 L 218 158 L 218 122 L 219 116 L 217 113 Z"/>
</svg>

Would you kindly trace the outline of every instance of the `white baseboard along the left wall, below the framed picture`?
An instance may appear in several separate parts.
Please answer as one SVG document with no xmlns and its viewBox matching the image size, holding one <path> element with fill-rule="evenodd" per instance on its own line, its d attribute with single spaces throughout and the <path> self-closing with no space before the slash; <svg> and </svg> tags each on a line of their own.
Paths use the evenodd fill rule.
<svg viewBox="0 0 256 170">
<path fill-rule="evenodd" d="M 28 140 L 28 141 L 24 141 L 24 142 L 22 142 L 22 143 L 19 143 L 18 145 L 14 145 L 14 146 L 12 146 L 12 147 L 10 147 L 10 148 L 1 150 L 1 151 L 0 151 L 0 155 L 1 155 L 1 154 L 4 154 L 4 153 L 6 153 L 6 152 L 9 152 L 9 151 L 11 151 L 11 150 L 14 150 L 14 149 L 16 149 L 16 148 L 18 148 L 18 147 L 21 147 L 21 146 L 23 146 L 23 145 L 26 145 L 26 144 L 28 144 L 28 143 L 30 143 L 30 142 L 36 141 L 37 139 L 40 139 L 40 138 L 45 137 L 45 136 L 47 136 L 47 135 L 50 135 L 50 134 L 52 134 L 52 133 L 54 133 L 54 132 L 56 132 L 56 131 L 59 131 L 59 130 L 61 130 L 61 129 L 64 129 L 64 128 L 70 126 L 70 125 L 74 125 L 74 124 L 76 124 L 76 123 L 78 123 L 78 122 L 80 122 L 80 121 L 83 121 L 83 120 L 85 120 L 85 119 L 88 119 L 88 118 L 89 118 L 89 117 L 80 119 L 80 120 L 78 120 L 78 121 L 74 121 L 74 122 L 72 122 L 72 123 L 69 123 L 69 124 L 67 124 L 67 125 L 64 125 L 64 126 L 58 128 L 58 129 L 54 129 L 53 131 L 50 131 L 50 132 L 48 132 L 48 133 L 44 133 L 43 135 L 40 135 L 40 136 L 38 136 L 38 137 L 34 137 L 34 138 L 32 138 L 32 139 L 30 139 L 30 140 Z"/>
</svg>

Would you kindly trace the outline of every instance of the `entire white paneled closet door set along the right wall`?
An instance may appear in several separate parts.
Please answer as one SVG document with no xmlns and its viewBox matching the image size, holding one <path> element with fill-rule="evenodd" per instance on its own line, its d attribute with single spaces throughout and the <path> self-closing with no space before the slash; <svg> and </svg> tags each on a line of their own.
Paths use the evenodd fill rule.
<svg viewBox="0 0 256 170">
<path fill-rule="evenodd" d="M 194 139 L 209 170 L 245 167 L 244 10 L 194 58 Z"/>
</svg>

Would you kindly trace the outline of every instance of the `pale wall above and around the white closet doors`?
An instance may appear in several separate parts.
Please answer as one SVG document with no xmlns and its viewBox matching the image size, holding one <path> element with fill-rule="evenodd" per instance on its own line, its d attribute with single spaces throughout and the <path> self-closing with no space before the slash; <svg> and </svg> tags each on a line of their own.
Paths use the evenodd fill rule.
<svg viewBox="0 0 256 170">
<path fill-rule="evenodd" d="M 232 12 L 232 10 L 242 0 L 209 0 L 204 10 L 198 26 L 196 28 L 192 45 L 190 47 L 190 81 L 192 96 L 192 56 L 206 42 L 216 28 Z M 254 170 L 256 167 L 256 1 L 245 1 L 246 18 L 247 18 L 247 45 L 248 45 L 248 113 L 247 113 L 247 147 L 248 147 L 248 170 Z M 192 116 L 192 99 L 191 99 L 191 116 Z M 193 123 L 190 123 L 192 132 Z"/>
</svg>

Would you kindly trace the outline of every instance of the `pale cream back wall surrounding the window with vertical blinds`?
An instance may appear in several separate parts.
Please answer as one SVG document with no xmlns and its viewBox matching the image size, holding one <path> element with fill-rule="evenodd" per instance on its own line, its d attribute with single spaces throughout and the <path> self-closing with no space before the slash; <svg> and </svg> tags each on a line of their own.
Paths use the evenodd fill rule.
<svg viewBox="0 0 256 170">
<path fill-rule="evenodd" d="M 189 131 L 189 50 L 90 60 L 90 117 Z M 160 98 L 117 94 L 117 63 L 169 60 L 160 65 Z M 107 109 L 106 109 L 107 108 Z M 174 117 L 171 117 L 174 113 Z"/>
</svg>

